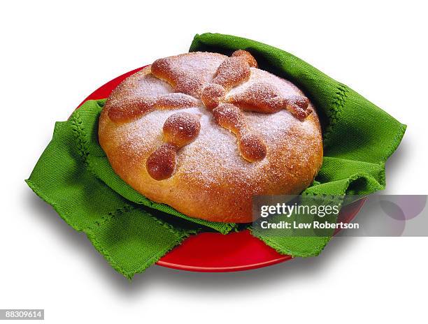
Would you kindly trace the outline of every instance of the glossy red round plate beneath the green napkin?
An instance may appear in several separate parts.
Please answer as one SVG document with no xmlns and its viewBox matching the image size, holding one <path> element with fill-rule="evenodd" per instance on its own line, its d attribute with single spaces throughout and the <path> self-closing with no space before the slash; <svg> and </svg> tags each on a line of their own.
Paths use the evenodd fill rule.
<svg viewBox="0 0 428 324">
<path fill-rule="evenodd" d="M 82 103 L 107 98 L 122 80 L 140 70 L 141 68 L 137 68 L 107 82 L 92 92 Z M 359 200 L 343 207 L 339 217 L 343 222 L 351 221 L 363 204 L 364 200 Z M 227 235 L 220 233 L 193 235 L 162 257 L 157 265 L 197 272 L 231 272 L 267 267 L 291 258 L 292 256 L 276 252 L 253 237 L 248 230 L 243 230 Z"/>
</svg>

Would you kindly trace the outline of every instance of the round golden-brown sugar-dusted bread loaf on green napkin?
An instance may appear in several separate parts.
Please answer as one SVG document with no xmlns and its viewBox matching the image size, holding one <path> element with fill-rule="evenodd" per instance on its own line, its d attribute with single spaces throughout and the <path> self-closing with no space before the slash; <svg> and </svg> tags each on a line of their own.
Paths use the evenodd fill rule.
<svg viewBox="0 0 428 324">
<path fill-rule="evenodd" d="M 106 101 L 99 143 L 136 191 L 209 221 L 252 221 L 253 196 L 300 193 L 322 164 L 313 105 L 243 50 L 180 54 L 131 75 Z"/>
</svg>

